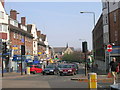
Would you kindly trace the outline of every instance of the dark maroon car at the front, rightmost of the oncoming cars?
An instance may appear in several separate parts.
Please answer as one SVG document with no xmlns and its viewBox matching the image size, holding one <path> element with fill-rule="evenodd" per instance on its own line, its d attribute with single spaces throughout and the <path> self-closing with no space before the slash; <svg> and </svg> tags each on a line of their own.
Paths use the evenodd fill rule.
<svg viewBox="0 0 120 90">
<path fill-rule="evenodd" d="M 62 76 L 62 75 L 75 75 L 76 69 L 70 64 L 59 65 L 59 74 L 60 74 L 60 76 Z"/>
</svg>

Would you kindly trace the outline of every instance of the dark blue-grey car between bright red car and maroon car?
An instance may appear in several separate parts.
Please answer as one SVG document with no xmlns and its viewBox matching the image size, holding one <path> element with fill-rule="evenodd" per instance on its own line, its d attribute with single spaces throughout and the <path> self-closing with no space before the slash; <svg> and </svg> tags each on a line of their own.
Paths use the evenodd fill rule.
<svg viewBox="0 0 120 90">
<path fill-rule="evenodd" d="M 45 74 L 58 74 L 58 68 L 54 64 L 47 65 L 46 68 L 43 70 L 43 75 Z"/>
</svg>

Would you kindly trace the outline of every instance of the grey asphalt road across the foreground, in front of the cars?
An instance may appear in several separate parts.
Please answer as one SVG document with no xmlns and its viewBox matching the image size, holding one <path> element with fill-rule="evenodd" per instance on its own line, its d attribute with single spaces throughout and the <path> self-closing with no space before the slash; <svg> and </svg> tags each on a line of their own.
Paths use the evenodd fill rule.
<svg viewBox="0 0 120 90">
<path fill-rule="evenodd" d="M 2 79 L 2 88 L 88 88 L 88 82 L 72 81 L 71 78 L 84 77 L 84 66 L 80 67 L 79 74 L 74 76 L 35 74 L 26 77 Z M 109 86 L 110 83 L 101 83 L 99 86 Z"/>
</svg>

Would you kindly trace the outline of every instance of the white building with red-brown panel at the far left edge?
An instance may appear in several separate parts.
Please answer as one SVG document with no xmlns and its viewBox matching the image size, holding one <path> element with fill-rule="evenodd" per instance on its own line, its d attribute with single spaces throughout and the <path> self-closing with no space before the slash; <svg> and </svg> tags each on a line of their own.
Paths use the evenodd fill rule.
<svg viewBox="0 0 120 90">
<path fill-rule="evenodd" d="M 8 15 L 4 8 L 4 1 L 0 1 L 0 53 L 2 53 L 2 44 L 9 43 L 9 33 L 8 33 Z M 9 48 L 9 47 L 7 47 Z M 8 56 L 4 57 L 5 59 L 8 58 Z M 2 66 L 2 58 L 0 57 L 0 67 Z M 3 61 L 3 68 L 6 67 L 5 61 Z"/>
</svg>

